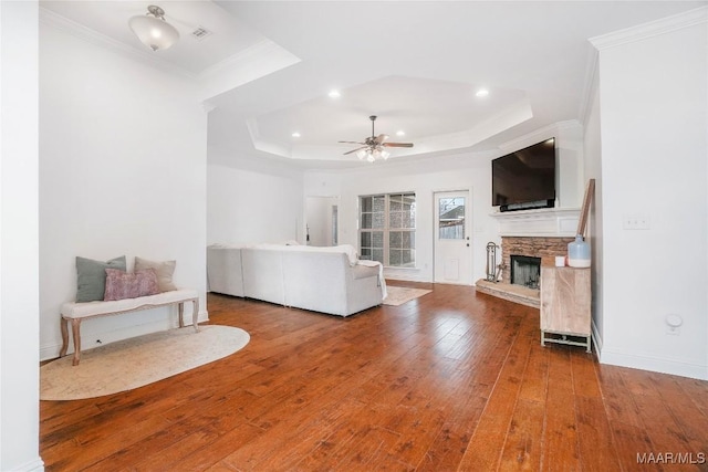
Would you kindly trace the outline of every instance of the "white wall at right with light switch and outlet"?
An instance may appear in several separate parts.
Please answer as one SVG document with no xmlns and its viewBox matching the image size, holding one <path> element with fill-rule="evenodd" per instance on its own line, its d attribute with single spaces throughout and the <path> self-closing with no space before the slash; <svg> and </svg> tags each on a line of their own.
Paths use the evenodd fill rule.
<svg viewBox="0 0 708 472">
<path fill-rule="evenodd" d="M 706 10 L 704 10 L 705 13 Z M 704 21 L 600 51 L 603 363 L 708 378 Z M 623 230 L 646 214 L 649 230 Z M 680 335 L 665 318 L 678 314 Z"/>
</svg>

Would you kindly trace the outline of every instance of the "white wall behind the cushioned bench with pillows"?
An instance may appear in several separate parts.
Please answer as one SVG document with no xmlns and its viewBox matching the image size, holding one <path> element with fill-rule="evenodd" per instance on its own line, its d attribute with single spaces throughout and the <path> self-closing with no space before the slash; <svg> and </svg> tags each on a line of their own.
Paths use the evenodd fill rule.
<svg viewBox="0 0 708 472">
<path fill-rule="evenodd" d="M 206 306 L 207 115 L 195 84 L 40 27 L 42 357 L 61 346 L 77 255 L 176 260 Z M 176 308 L 84 323 L 82 347 L 176 326 Z M 206 311 L 200 316 L 206 318 Z M 187 318 L 188 319 L 188 318 Z"/>
</svg>

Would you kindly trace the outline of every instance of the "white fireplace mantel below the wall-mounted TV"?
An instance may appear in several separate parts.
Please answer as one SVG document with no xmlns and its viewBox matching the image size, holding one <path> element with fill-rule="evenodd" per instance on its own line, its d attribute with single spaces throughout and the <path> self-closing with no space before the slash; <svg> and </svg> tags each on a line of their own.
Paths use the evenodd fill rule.
<svg viewBox="0 0 708 472">
<path fill-rule="evenodd" d="M 496 212 L 490 214 L 499 222 L 502 237 L 575 237 L 580 208 L 543 208 Z"/>
</svg>

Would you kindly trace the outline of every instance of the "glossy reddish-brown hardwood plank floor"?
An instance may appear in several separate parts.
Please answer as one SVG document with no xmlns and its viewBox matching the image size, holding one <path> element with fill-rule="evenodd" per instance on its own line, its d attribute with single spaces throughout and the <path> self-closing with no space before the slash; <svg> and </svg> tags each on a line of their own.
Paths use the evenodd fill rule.
<svg viewBox="0 0 708 472">
<path fill-rule="evenodd" d="M 538 310 L 473 287 L 398 285 L 433 292 L 347 318 L 209 294 L 210 323 L 251 342 L 42 401 L 46 470 L 708 470 L 708 382 L 542 347 Z"/>
</svg>

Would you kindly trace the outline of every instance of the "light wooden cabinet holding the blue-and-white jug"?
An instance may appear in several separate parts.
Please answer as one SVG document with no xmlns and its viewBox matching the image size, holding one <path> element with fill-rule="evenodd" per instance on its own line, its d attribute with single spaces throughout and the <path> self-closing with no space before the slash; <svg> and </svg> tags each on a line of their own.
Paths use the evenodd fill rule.
<svg viewBox="0 0 708 472">
<path fill-rule="evenodd" d="M 590 269 L 541 268 L 541 345 L 585 346 L 591 352 Z"/>
</svg>

